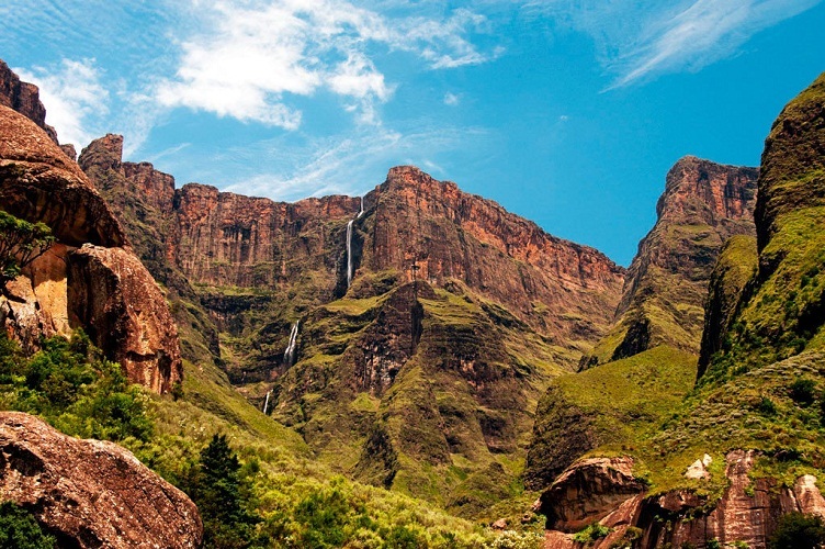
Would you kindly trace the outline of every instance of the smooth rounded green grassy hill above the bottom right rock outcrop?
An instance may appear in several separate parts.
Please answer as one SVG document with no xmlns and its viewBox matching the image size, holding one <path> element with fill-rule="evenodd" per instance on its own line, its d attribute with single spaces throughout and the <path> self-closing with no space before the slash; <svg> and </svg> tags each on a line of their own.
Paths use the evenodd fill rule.
<svg viewBox="0 0 825 549">
<path fill-rule="evenodd" d="M 641 456 L 694 378 L 696 356 L 665 346 L 556 378 L 536 411 L 528 485 L 546 486 L 590 450 Z"/>
</svg>

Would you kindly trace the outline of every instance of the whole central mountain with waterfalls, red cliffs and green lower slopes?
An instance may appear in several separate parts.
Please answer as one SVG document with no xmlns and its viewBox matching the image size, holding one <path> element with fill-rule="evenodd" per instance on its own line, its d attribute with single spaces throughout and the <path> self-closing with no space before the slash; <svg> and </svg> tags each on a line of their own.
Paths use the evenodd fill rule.
<svg viewBox="0 0 825 549">
<path fill-rule="evenodd" d="M 363 200 L 286 204 L 173 189 L 121 144 L 80 165 L 152 272 L 191 282 L 182 309 L 244 394 L 370 482 L 466 514 L 510 495 L 535 400 L 604 334 L 620 267 L 411 167 Z"/>
</svg>

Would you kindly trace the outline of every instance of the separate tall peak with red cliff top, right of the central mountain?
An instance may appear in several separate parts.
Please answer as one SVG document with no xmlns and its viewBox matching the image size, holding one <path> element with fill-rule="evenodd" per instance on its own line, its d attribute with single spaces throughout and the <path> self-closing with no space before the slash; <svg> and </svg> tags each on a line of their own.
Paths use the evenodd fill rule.
<svg viewBox="0 0 825 549">
<path fill-rule="evenodd" d="M 590 360 L 604 362 L 657 345 L 698 354 L 713 265 L 733 235 L 755 234 L 756 168 L 694 157 L 668 172 L 658 220 L 628 271 L 618 322 Z"/>
</svg>

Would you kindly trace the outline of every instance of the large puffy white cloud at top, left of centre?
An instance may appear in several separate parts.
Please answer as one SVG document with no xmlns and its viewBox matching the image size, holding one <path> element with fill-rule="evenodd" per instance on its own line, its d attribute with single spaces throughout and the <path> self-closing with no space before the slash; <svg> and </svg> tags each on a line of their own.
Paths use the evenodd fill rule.
<svg viewBox="0 0 825 549">
<path fill-rule="evenodd" d="M 430 68 L 481 64 L 501 54 L 470 40 L 487 32 L 470 10 L 447 18 L 394 16 L 332 0 L 223 0 L 188 11 L 199 30 L 180 44 L 174 78 L 157 100 L 244 122 L 285 130 L 301 125 L 295 97 L 327 90 L 361 123 L 380 124 L 377 105 L 394 86 L 377 68 L 375 51 L 411 53 Z"/>
</svg>

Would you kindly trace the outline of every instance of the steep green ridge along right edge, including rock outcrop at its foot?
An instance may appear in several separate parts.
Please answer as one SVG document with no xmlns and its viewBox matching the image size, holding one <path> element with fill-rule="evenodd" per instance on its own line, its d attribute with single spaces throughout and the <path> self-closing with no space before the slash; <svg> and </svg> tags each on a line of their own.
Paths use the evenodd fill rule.
<svg viewBox="0 0 825 549">
<path fill-rule="evenodd" d="M 555 517 L 545 547 L 578 547 L 569 533 L 598 520 L 609 534 L 594 547 L 762 548 L 782 514 L 825 516 L 817 488 L 825 462 L 824 90 L 825 75 L 786 107 L 766 141 L 758 245 L 732 239 L 714 268 L 707 370 L 681 406 L 621 448 L 630 479 L 644 482 L 599 473 L 592 459 L 617 449 L 591 450 L 542 496 Z M 609 366 L 586 373 L 601 368 Z M 635 391 L 644 392 L 641 383 Z"/>
</svg>

